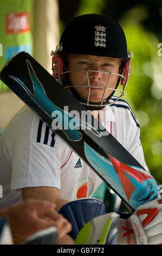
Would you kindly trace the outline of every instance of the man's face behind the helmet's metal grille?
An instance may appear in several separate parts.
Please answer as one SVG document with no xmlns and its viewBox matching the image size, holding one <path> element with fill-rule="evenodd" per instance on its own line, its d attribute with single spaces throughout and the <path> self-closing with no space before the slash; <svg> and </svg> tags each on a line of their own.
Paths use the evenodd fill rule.
<svg viewBox="0 0 162 256">
<path fill-rule="evenodd" d="M 95 71 L 106 71 L 120 74 L 121 59 L 102 57 L 102 56 L 92 56 L 92 55 L 81 55 L 74 54 L 68 57 L 68 63 L 66 66 L 66 71 L 69 70 L 95 70 Z M 83 71 L 69 72 L 69 79 L 73 86 L 75 87 L 77 93 L 83 100 L 87 100 L 88 97 L 88 80 L 87 74 Z M 89 83 L 90 83 L 90 96 L 89 101 L 100 102 L 104 93 L 102 88 L 93 87 L 106 87 L 109 74 L 103 72 L 88 72 Z M 108 82 L 108 88 L 115 89 L 116 83 L 118 82 L 119 76 L 111 75 Z M 87 86 L 87 87 L 84 87 Z M 107 89 L 104 100 L 113 92 L 111 89 Z"/>
</svg>

